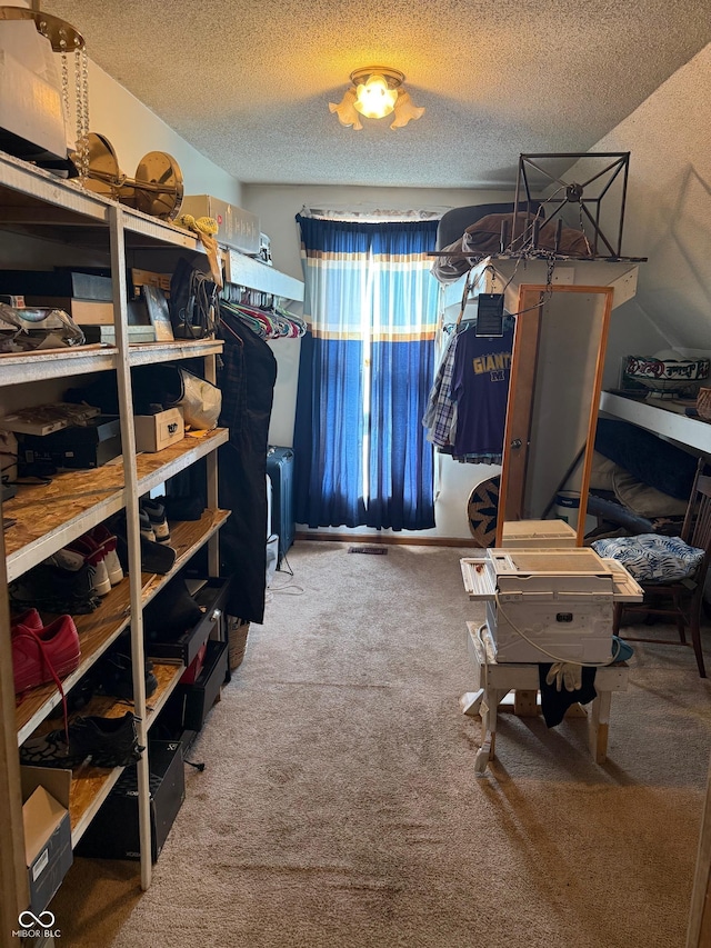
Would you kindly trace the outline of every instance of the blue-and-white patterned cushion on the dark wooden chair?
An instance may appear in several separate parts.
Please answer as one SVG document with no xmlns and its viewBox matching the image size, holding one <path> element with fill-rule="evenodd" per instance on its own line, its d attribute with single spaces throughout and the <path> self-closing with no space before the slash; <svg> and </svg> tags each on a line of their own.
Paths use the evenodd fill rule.
<svg viewBox="0 0 711 948">
<path fill-rule="evenodd" d="M 591 546 L 599 556 L 619 560 L 638 582 L 679 582 L 693 576 L 703 559 L 698 547 L 658 533 L 613 537 Z"/>
</svg>

